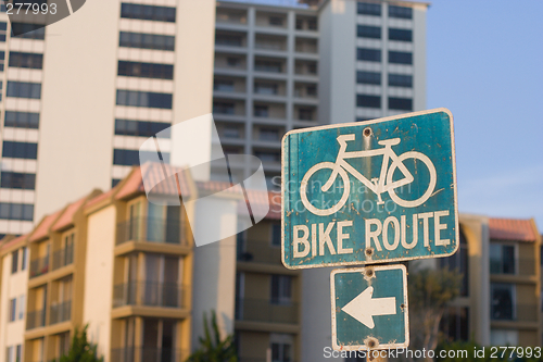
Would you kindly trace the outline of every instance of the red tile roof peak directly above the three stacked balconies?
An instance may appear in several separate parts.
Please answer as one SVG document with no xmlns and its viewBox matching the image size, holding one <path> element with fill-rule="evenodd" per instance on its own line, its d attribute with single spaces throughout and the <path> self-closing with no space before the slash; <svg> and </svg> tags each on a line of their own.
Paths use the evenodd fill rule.
<svg viewBox="0 0 543 362">
<path fill-rule="evenodd" d="M 181 195 L 190 196 L 189 182 L 182 167 L 148 162 L 132 170 L 115 199 L 119 200 L 135 192 L 144 192 L 144 184 L 151 187 L 150 195 L 179 196 L 177 179 L 179 179 Z"/>
</svg>

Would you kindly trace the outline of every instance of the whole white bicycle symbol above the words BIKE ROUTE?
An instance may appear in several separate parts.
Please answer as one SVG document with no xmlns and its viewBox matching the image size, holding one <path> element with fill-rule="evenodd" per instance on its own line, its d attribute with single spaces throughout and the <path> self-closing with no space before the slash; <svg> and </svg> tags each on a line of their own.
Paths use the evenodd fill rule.
<svg viewBox="0 0 543 362">
<path fill-rule="evenodd" d="M 435 182 L 438 177 L 435 174 L 435 167 L 433 166 L 433 163 L 426 154 L 416 151 L 409 151 L 396 155 L 396 153 L 394 153 L 394 151 L 392 150 L 392 146 L 400 143 L 401 141 L 400 138 L 391 138 L 378 141 L 379 145 L 384 146 L 384 148 L 381 149 L 345 152 L 346 142 L 352 141 L 354 139 L 355 139 L 354 134 L 339 136 L 337 140 L 340 143 L 340 150 L 338 152 L 338 158 L 336 159 L 336 163 L 332 162 L 317 163 L 316 165 L 311 167 L 305 174 L 304 178 L 302 179 L 302 185 L 300 186 L 300 196 L 302 198 L 303 204 L 308 211 L 311 211 L 315 215 L 327 216 L 333 214 L 334 212 L 343 208 L 351 191 L 351 184 L 349 182 L 348 172 L 354 177 L 356 177 L 364 185 L 366 185 L 371 191 L 377 194 L 378 204 L 384 203 L 384 201 L 382 201 L 381 199 L 381 194 L 383 192 L 389 192 L 390 198 L 396 204 L 404 208 L 418 207 L 422 204 L 426 200 L 428 200 L 428 198 L 430 198 L 433 189 L 435 188 Z M 348 159 L 357 159 L 357 158 L 362 159 L 381 154 L 383 155 L 383 159 L 381 164 L 380 176 L 371 178 L 371 182 L 345 161 Z M 408 185 L 413 183 L 413 180 L 415 179 L 415 177 L 413 177 L 412 173 L 407 170 L 407 167 L 403 163 L 407 159 L 422 161 L 422 163 L 428 167 L 428 171 L 430 173 L 430 183 L 428 185 L 428 189 L 420 198 L 409 201 L 401 199 L 394 191 L 395 188 Z M 392 164 L 390 165 L 390 167 L 389 167 L 389 160 L 392 160 Z M 320 190 L 323 192 L 328 191 L 336 182 L 338 175 L 340 175 L 341 179 L 343 180 L 343 195 L 341 199 L 338 201 L 338 203 L 336 203 L 334 205 L 328 209 L 317 209 L 310 202 L 310 200 L 307 200 L 307 185 L 310 184 L 310 178 L 317 171 L 324 168 L 330 168 L 332 173 L 330 175 L 330 178 L 328 178 L 328 180 L 323 185 Z M 392 177 L 396 168 L 400 170 L 404 178 L 393 182 Z"/>
</svg>

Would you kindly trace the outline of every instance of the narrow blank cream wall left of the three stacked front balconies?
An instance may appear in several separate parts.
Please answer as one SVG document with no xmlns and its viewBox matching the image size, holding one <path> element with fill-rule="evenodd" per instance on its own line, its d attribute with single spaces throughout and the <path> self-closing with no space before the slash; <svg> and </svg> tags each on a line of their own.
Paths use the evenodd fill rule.
<svg viewBox="0 0 543 362">
<path fill-rule="evenodd" d="M 111 350 L 115 220 L 115 207 L 110 205 L 89 215 L 87 232 L 83 321 L 89 324 L 89 339 L 98 344 L 99 353 L 105 357 L 105 362 L 110 361 Z"/>
</svg>

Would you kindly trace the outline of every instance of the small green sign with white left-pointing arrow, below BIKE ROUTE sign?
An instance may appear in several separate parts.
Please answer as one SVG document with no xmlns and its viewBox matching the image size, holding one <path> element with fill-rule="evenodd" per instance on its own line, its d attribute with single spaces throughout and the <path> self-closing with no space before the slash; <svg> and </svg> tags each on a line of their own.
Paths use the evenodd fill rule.
<svg viewBox="0 0 543 362">
<path fill-rule="evenodd" d="M 330 275 L 332 348 L 407 348 L 409 322 L 404 265 L 339 269 Z"/>
</svg>

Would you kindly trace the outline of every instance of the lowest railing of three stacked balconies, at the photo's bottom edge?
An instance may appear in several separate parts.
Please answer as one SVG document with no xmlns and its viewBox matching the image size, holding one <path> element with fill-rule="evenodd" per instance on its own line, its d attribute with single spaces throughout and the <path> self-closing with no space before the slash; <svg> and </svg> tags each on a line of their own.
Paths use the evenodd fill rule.
<svg viewBox="0 0 543 362">
<path fill-rule="evenodd" d="M 187 351 L 173 348 L 125 347 L 111 350 L 111 361 L 115 362 L 180 362 L 187 357 Z"/>
</svg>

